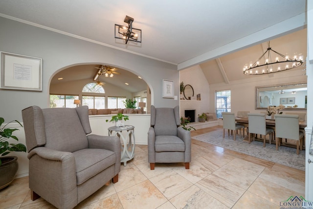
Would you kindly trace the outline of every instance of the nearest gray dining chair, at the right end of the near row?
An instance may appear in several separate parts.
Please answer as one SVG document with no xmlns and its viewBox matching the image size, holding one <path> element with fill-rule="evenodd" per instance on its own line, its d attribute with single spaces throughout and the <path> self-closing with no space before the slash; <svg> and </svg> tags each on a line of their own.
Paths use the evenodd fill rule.
<svg viewBox="0 0 313 209">
<path fill-rule="evenodd" d="M 299 142 L 300 150 L 302 150 L 304 133 L 299 130 L 299 116 L 288 114 L 275 114 L 275 129 L 276 129 L 276 150 L 280 146 L 280 140 L 294 139 L 297 141 L 296 153 L 299 155 Z"/>
</svg>

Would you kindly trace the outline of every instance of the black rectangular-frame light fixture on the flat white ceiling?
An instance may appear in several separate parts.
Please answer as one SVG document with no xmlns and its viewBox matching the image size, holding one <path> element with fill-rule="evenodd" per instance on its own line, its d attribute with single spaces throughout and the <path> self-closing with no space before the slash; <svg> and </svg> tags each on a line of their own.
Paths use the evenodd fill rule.
<svg viewBox="0 0 313 209">
<path fill-rule="evenodd" d="M 141 29 L 133 28 L 134 18 L 128 17 L 126 15 L 124 23 L 128 23 L 128 26 L 115 24 L 114 28 L 114 38 L 128 41 L 141 43 Z"/>
</svg>

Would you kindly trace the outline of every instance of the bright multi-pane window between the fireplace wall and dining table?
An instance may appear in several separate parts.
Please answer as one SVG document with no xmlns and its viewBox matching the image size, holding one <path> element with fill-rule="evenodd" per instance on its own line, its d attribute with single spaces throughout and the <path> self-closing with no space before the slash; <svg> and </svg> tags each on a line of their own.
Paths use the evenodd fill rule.
<svg viewBox="0 0 313 209">
<path fill-rule="evenodd" d="M 215 92 L 215 112 L 217 117 L 222 117 L 223 112 L 231 112 L 230 90 Z"/>
</svg>

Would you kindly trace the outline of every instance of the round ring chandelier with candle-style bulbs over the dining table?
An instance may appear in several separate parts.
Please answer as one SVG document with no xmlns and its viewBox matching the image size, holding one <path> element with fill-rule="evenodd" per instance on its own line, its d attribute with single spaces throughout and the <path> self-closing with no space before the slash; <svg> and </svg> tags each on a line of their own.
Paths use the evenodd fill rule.
<svg viewBox="0 0 313 209">
<path fill-rule="evenodd" d="M 272 52 L 270 54 L 270 52 Z M 274 54 L 274 55 L 272 55 Z M 271 59 L 275 59 L 274 62 L 270 62 Z M 263 61 L 263 64 L 261 63 Z M 274 51 L 269 47 L 266 52 L 255 62 L 247 64 L 244 67 L 245 75 L 263 75 L 274 72 L 282 72 L 285 70 L 291 70 L 293 68 L 299 67 L 303 63 L 303 55 L 294 55 L 293 58 L 285 56 L 277 51 Z"/>
</svg>

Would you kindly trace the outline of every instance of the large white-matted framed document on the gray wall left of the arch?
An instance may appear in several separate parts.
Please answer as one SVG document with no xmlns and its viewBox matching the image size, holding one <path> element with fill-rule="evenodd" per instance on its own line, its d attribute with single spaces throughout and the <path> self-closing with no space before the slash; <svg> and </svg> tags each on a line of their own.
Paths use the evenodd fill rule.
<svg viewBox="0 0 313 209">
<path fill-rule="evenodd" d="M 42 91 L 42 59 L 1 51 L 0 88 Z"/>
</svg>

